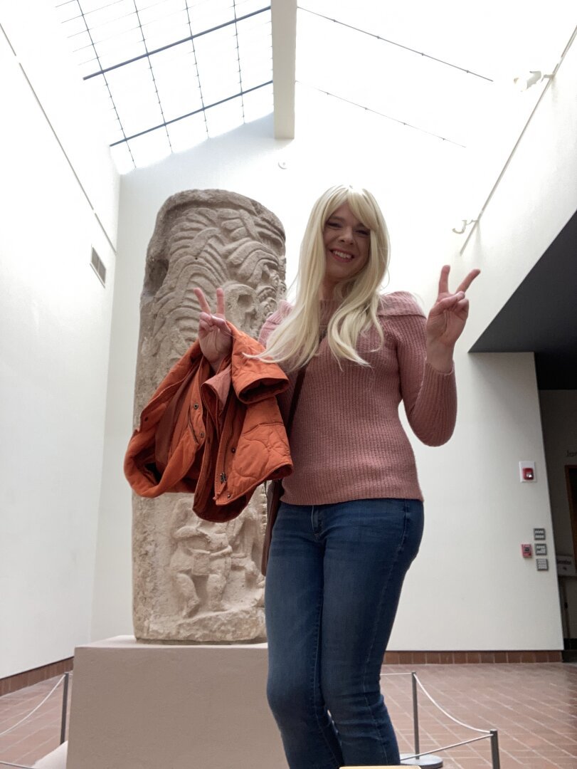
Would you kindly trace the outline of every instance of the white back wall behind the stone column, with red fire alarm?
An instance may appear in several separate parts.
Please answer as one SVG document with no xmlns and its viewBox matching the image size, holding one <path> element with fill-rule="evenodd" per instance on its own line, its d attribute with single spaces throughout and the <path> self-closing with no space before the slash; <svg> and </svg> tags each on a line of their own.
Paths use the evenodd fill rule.
<svg viewBox="0 0 577 769">
<path fill-rule="evenodd" d="M 428 306 L 443 263 L 452 260 L 456 276 L 468 269 L 450 232 L 458 210 L 459 148 L 385 122 L 363 123 L 355 133 L 342 114 L 339 121 L 330 110 L 328 102 L 310 99 L 306 123 L 290 143 L 270 138 L 272 120 L 264 118 L 122 178 L 95 638 L 131 631 L 131 494 L 122 460 L 131 434 L 145 252 L 155 215 L 169 195 L 225 188 L 267 205 L 287 228 L 290 278 L 313 199 L 336 181 L 360 181 L 380 199 L 390 225 L 390 290 L 416 291 Z M 351 138 L 356 135 L 362 141 Z M 279 160 L 287 161 L 287 170 Z M 491 259 L 502 263 L 497 246 L 485 255 L 486 262 Z M 484 276 L 471 289 L 473 316 L 482 313 L 493 290 L 493 280 Z M 437 449 L 416 444 L 426 536 L 406 581 L 390 647 L 560 648 L 555 574 L 537 574 L 519 548 L 533 526 L 550 529 L 532 355 L 472 356 L 468 346 L 470 341 L 461 345 L 456 361 L 454 438 Z M 536 460 L 539 483 L 519 484 L 518 461 L 526 458 Z"/>
</svg>

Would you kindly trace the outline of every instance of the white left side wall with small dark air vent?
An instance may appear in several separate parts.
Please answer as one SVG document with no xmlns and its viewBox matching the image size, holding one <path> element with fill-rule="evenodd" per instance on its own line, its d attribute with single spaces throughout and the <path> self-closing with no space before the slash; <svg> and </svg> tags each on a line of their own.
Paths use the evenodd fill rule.
<svg viewBox="0 0 577 769">
<path fill-rule="evenodd" d="M 89 640 L 119 179 L 52 9 L 0 23 L 3 677 Z"/>
</svg>

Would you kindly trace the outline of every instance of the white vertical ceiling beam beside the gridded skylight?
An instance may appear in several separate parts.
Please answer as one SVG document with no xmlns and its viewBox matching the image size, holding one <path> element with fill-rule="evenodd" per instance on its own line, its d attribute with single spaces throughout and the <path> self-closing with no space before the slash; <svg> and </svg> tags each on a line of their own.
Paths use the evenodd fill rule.
<svg viewBox="0 0 577 769">
<path fill-rule="evenodd" d="M 294 138 L 297 60 L 297 0 L 271 0 L 273 33 L 274 138 Z"/>
</svg>

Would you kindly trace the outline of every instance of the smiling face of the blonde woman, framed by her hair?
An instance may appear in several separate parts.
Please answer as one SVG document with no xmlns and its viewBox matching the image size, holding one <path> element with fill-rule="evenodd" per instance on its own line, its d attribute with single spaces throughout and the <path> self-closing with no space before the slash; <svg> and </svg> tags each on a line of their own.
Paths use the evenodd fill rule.
<svg viewBox="0 0 577 769">
<path fill-rule="evenodd" d="M 323 228 L 325 273 L 323 299 L 330 299 L 333 288 L 357 275 L 369 261 L 370 229 L 343 203 L 327 218 Z"/>
</svg>

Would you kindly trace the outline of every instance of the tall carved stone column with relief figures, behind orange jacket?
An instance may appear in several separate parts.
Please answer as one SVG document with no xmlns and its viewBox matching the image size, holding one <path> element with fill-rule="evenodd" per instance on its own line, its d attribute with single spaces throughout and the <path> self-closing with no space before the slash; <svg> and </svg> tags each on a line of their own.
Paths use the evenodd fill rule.
<svg viewBox="0 0 577 769">
<path fill-rule="evenodd" d="M 222 190 L 172 195 L 148 245 L 134 414 L 197 335 L 192 289 L 226 292 L 227 319 L 256 337 L 284 296 L 284 229 L 250 198 Z M 201 521 L 188 494 L 134 496 L 134 634 L 141 641 L 263 641 L 260 554 L 265 501 L 257 489 L 227 524 Z"/>
</svg>

